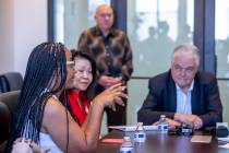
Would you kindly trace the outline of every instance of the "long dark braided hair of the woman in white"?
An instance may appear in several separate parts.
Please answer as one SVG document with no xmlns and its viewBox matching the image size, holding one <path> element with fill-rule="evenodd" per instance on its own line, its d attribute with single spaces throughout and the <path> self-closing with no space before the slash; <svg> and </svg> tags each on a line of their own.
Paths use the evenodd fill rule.
<svg viewBox="0 0 229 153">
<path fill-rule="evenodd" d="M 8 152 L 17 138 L 39 143 L 45 105 L 63 89 L 67 80 L 65 48 L 60 43 L 43 43 L 32 51 L 14 115 Z"/>
</svg>

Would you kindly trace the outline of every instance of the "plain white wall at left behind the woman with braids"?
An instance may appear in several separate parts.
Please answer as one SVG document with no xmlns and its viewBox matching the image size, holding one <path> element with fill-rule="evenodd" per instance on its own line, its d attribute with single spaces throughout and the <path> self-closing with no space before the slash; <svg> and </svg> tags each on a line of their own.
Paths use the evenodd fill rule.
<svg viewBox="0 0 229 153">
<path fill-rule="evenodd" d="M 32 49 L 48 38 L 47 0 L 0 0 L 0 73 L 24 75 Z"/>
</svg>

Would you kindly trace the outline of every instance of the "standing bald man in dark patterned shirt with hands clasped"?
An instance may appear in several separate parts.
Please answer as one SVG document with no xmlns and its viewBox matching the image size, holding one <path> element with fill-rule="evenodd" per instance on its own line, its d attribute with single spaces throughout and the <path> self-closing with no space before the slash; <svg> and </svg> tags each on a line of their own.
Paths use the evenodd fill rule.
<svg viewBox="0 0 229 153">
<path fill-rule="evenodd" d="M 113 17 L 110 5 L 99 5 L 95 14 L 97 25 L 85 30 L 79 39 L 79 49 L 95 58 L 97 64 L 98 75 L 92 97 L 113 84 L 126 84 L 133 71 L 129 38 L 124 32 L 112 27 Z M 116 111 L 106 110 L 108 126 L 126 123 L 126 103 L 125 107 L 116 107 Z"/>
</svg>

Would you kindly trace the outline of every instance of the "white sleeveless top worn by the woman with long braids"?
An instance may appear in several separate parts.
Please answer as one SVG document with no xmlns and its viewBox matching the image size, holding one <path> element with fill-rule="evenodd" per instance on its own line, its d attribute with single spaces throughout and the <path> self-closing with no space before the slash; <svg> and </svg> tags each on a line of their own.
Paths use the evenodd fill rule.
<svg viewBox="0 0 229 153">
<path fill-rule="evenodd" d="M 49 153 L 63 153 L 48 133 L 40 132 L 39 140 L 41 151 L 50 149 Z"/>
</svg>

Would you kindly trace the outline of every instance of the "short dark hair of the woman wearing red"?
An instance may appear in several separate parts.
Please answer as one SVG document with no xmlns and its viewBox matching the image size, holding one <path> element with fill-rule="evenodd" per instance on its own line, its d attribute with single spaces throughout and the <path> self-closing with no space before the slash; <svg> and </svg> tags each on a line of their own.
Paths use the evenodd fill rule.
<svg viewBox="0 0 229 153">
<path fill-rule="evenodd" d="M 73 60 L 75 60 L 75 58 L 80 58 L 80 59 L 86 59 L 86 60 L 88 60 L 91 62 L 92 73 L 93 73 L 93 81 L 89 84 L 89 86 L 87 87 L 87 89 L 89 89 L 92 86 L 92 84 L 95 82 L 96 76 L 97 76 L 96 62 L 88 54 L 86 54 L 86 52 L 84 52 L 82 50 L 72 49 L 71 51 L 72 51 Z"/>
</svg>

